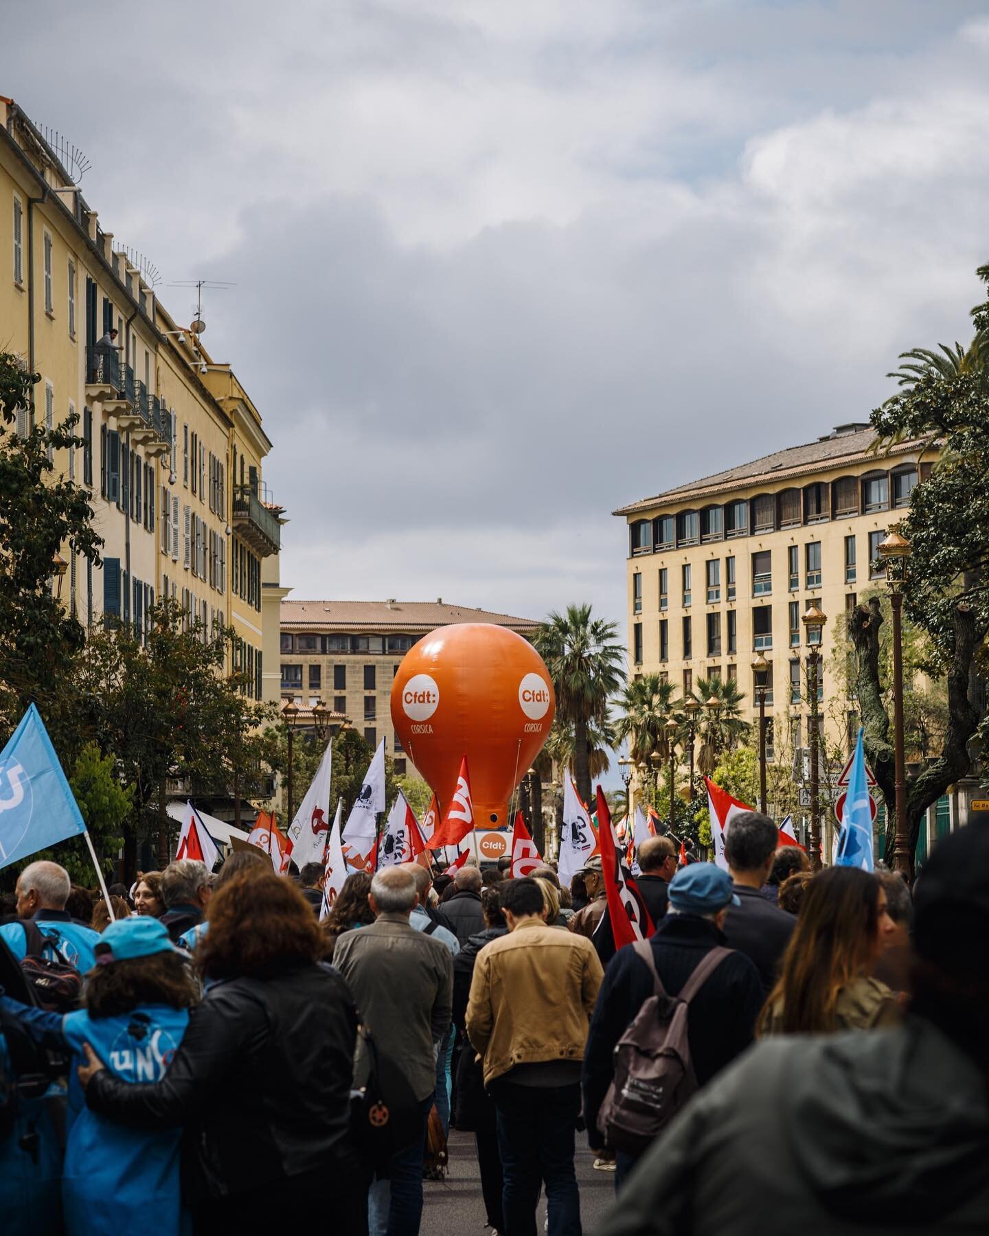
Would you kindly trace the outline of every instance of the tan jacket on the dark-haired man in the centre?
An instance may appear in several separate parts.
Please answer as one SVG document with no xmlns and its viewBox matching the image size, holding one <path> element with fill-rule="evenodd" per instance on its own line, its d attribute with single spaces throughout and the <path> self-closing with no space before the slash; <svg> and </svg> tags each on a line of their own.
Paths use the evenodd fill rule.
<svg viewBox="0 0 989 1236">
<path fill-rule="evenodd" d="M 485 1085 L 516 1064 L 581 1060 L 603 970 L 584 936 L 530 921 L 477 954 L 467 1036 Z"/>
</svg>

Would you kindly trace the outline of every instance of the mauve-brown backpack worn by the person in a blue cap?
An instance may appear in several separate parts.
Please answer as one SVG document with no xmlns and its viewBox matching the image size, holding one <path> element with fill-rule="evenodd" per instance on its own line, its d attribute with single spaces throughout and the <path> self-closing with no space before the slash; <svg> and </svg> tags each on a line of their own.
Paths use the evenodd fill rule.
<svg viewBox="0 0 989 1236">
<path fill-rule="evenodd" d="M 653 974 L 653 995 L 614 1048 L 614 1080 L 597 1116 L 607 1145 L 639 1154 L 663 1132 L 697 1089 L 690 1059 L 687 1011 L 711 973 L 732 952 L 712 948 L 697 963 L 679 996 L 669 996 L 656 971 L 653 947 L 640 939 L 637 957 Z"/>
</svg>

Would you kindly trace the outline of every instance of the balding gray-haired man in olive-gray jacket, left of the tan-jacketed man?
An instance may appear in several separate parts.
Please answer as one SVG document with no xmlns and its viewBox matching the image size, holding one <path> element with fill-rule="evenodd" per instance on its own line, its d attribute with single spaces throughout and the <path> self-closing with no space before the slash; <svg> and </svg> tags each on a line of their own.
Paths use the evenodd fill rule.
<svg viewBox="0 0 989 1236">
<path fill-rule="evenodd" d="M 446 944 L 409 923 L 419 894 L 408 866 L 378 871 L 367 900 L 375 922 L 344 932 L 333 960 L 378 1051 L 402 1069 L 420 1104 L 419 1136 L 394 1156 L 389 1179 L 375 1180 L 368 1196 L 371 1236 L 404 1236 L 418 1232 L 423 1213 L 425 1130 L 436 1054 L 452 1011 L 454 959 Z M 357 1080 L 363 1080 L 361 1044 L 356 1069 Z"/>
</svg>

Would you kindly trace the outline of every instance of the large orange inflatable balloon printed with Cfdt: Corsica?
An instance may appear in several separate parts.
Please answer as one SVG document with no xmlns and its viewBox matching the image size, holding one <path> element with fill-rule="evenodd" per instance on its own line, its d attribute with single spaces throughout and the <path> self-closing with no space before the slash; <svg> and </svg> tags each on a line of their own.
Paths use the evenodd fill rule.
<svg viewBox="0 0 989 1236">
<path fill-rule="evenodd" d="M 477 828 L 507 828 L 508 800 L 549 737 L 556 701 L 543 658 L 506 627 L 457 623 L 398 666 L 392 721 L 446 811 L 467 756 Z"/>
</svg>

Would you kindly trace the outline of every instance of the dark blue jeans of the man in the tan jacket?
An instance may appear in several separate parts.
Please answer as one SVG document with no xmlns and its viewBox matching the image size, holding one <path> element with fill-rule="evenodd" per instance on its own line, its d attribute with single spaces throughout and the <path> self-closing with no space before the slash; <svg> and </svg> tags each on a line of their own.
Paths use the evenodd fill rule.
<svg viewBox="0 0 989 1236">
<path fill-rule="evenodd" d="M 538 1236 L 535 1208 L 545 1182 L 549 1236 L 581 1236 L 574 1133 L 580 1085 L 528 1086 L 494 1080 L 506 1236 Z"/>
</svg>

